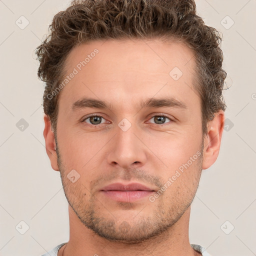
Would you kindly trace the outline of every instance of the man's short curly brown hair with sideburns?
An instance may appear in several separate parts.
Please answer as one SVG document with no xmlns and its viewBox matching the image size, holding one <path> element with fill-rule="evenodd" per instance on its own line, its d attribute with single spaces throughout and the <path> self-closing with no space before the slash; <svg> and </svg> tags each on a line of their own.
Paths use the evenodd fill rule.
<svg viewBox="0 0 256 256">
<path fill-rule="evenodd" d="M 226 72 L 218 31 L 204 24 L 193 0 L 73 0 L 58 12 L 49 34 L 35 49 L 40 64 L 38 77 L 46 83 L 44 113 L 56 128 L 59 93 L 47 95 L 64 77 L 64 63 L 71 49 L 91 40 L 153 37 L 175 39 L 190 47 L 195 56 L 196 84 L 201 98 L 202 131 L 214 113 L 226 108 L 222 89 Z"/>
</svg>

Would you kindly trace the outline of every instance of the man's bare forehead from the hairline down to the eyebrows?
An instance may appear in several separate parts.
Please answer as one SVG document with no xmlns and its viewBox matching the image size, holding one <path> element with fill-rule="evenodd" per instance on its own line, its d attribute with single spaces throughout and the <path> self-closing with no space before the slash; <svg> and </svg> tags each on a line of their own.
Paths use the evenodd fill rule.
<svg viewBox="0 0 256 256">
<path fill-rule="evenodd" d="M 194 64 L 193 52 L 180 42 L 125 39 L 80 44 L 65 61 L 65 75 L 75 74 L 61 90 L 59 101 L 93 96 L 125 104 L 125 99 L 167 92 L 189 100 L 195 94 Z"/>
</svg>

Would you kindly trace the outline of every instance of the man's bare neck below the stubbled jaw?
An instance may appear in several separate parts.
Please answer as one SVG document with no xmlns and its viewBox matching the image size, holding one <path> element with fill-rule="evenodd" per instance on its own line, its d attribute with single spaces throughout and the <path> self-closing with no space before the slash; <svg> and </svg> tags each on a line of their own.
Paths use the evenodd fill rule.
<svg viewBox="0 0 256 256">
<path fill-rule="evenodd" d="M 61 247 L 58 256 L 201 255 L 199 252 L 196 252 L 189 243 L 188 224 L 190 206 L 179 220 L 166 231 L 160 233 L 156 237 L 137 244 L 109 241 L 100 237 L 81 223 L 70 206 L 68 206 L 68 211 L 70 239 Z"/>
</svg>

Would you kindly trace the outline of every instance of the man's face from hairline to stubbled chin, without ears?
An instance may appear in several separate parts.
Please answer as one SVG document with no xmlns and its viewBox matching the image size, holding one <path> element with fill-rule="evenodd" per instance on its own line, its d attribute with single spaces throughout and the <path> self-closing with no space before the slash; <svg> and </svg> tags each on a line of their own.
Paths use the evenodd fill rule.
<svg viewBox="0 0 256 256">
<path fill-rule="evenodd" d="M 137 243 L 189 207 L 203 155 L 193 68 L 189 48 L 160 40 L 93 41 L 68 55 L 57 164 L 70 206 L 98 235 Z"/>
</svg>

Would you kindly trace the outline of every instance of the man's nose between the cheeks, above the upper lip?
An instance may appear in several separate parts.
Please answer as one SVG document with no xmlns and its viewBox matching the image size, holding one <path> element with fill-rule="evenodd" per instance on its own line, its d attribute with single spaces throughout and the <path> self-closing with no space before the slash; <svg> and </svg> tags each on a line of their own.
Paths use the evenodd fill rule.
<svg viewBox="0 0 256 256">
<path fill-rule="evenodd" d="M 115 167 L 134 168 L 141 167 L 146 162 L 146 146 L 141 135 L 134 127 L 124 131 L 116 127 L 116 135 L 111 140 L 107 161 Z"/>
</svg>

